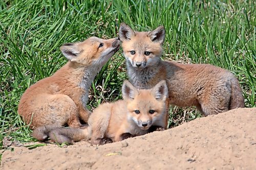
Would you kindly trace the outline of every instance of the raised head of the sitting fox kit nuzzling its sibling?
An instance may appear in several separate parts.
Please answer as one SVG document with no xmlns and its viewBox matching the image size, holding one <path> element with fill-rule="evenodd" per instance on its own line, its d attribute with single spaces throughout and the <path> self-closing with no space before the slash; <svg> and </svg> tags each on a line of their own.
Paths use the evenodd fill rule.
<svg viewBox="0 0 256 170">
<path fill-rule="evenodd" d="M 119 38 L 104 40 L 90 37 L 83 42 L 66 43 L 60 47 L 62 54 L 79 65 L 104 65 L 120 47 Z"/>
</svg>

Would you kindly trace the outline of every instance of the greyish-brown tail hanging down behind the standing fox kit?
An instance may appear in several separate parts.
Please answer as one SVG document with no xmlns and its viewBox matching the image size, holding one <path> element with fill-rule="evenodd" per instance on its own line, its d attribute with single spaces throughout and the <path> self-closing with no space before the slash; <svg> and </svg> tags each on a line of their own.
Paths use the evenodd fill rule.
<svg viewBox="0 0 256 170">
<path fill-rule="evenodd" d="M 236 109 L 244 106 L 244 97 L 242 88 L 237 80 L 237 78 L 233 78 L 231 81 L 231 97 L 229 102 L 229 110 Z"/>
</svg>

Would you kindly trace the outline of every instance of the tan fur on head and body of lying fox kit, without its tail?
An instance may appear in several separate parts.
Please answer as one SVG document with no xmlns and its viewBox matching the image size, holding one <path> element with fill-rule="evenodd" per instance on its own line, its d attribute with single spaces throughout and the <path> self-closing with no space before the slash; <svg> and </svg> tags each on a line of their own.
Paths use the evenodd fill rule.
<svg viewBox="0 0 256 170">
<path fill-rule="evenodd" d="M 127 87 L 130 91 L 126 91 Z M 162 87 L 163 89 L 160 89 Z M 159 89 L 161 91 L 159 91 Z M 161 99 L 156 100 L 156 92 L 161 93 Z M 89 132 L 91 143 L 100 144 L 102 138 L 110 138 L 112 141 L 122 140 L 122 134 L 129 133 L 132 136 L 148 133 L 151 126 L 160 126 L 164 129 L 165 101 L 167 86 L 164 81 L 159 82 L 152 89 L 136 89 L 131 83 L 125 81 L 122 87 L 124 100 L 111 104 L 102 104 L 96 108 L 89 119 Z M 140 113 L 136 114 L 135 110 Z M 154 114 L 148 113 L 155 110 Z M 147 122 L 143 130 L 142 122 Z"/>
</svg>

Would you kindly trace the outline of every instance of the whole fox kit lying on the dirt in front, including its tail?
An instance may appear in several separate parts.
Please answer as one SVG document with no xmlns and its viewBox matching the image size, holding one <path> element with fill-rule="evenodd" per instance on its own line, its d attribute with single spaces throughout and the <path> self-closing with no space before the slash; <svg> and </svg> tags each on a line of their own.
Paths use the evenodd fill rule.
<svg viewBox="0 0 256 170">
<path fill-rule="evenodd" d="M 45 125 L 35 129 L 33 137 L 45 140 L 49 136 L 58 143 L 91 139 L 91 144 L 104 144 L 146 134 L 150 128 L 167 128 L 165 100 L 168 98 L 168 88 L 165 81 L 160 81 L 152 89 L 141 90 L 124 81 L 122 96 L 123 100 L 96 108 L 87 128 Z"/>
</svg>

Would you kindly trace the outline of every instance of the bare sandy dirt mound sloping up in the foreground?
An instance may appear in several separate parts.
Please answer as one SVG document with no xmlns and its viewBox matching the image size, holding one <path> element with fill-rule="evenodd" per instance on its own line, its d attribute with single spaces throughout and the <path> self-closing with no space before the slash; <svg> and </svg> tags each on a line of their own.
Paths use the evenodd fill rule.
<svg viewBox="0 0 256 170">
<path fill-rule="evenodd" d="M 0 169 L 255 169 L 256 108 L 102 146 L 13 148 L 3 153 Z"/>
</svg>

